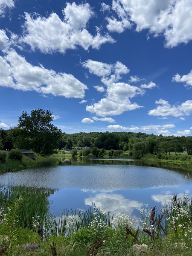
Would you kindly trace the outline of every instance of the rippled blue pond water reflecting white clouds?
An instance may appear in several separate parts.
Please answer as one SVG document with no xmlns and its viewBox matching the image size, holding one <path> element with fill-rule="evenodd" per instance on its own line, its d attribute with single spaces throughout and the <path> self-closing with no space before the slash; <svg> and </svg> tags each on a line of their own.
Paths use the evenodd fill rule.
<svg viewBox="0 0 192 256">
<path fill-rule="evenodd" d="M 69 161 L 64 165 L 0 174 L 0 184 L 13 182 L 51 190 L 52 213 L 85 210 L 92 204 L 111 213 L 138 218 L 146 204 L 161 209 L 173 194 L 192 195 L 192 174 L 148 166 L 130 159 Z"/>
</svg>

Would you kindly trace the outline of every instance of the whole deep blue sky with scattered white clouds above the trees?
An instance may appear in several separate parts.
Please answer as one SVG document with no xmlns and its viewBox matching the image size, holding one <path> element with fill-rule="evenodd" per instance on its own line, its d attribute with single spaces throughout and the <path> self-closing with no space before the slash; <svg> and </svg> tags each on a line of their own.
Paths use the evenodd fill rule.
<svg viewBox="0 0 192 256">
<path fill-rule="evenodd" d="M 191 0 L 0 0 L 0 128 L 192 136 Z"/>
</svg>

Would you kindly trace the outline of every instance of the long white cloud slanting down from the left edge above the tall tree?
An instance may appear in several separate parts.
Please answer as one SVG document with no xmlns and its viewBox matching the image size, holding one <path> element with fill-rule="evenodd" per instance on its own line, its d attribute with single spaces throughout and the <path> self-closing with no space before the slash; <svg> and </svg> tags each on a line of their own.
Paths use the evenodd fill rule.
<svg viewBox="0 0 192 256">
<path fill-rule="evenodd" d="M 42 65 L 33 66 L 14 50 L 0 57 L 0 85 L 16 90 L 36 92 L 66 98 L 83 98 L 87 86 L 71 74 L 56 73 Z"/>
</svg>

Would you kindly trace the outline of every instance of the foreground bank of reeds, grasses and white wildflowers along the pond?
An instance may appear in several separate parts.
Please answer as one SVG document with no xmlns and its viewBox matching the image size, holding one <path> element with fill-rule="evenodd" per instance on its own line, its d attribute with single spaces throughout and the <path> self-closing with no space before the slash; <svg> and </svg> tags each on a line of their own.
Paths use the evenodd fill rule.
<svg viewBox="0 0 192 256">
<path fill-rule="evenodd" d="M 48 192 L 20 186 L 0 190 L 0 255 L 24 256 L 133 256 L 191 255 L 192 202 L 177 198 L 161 211 L 139 209 L 131 220 L 118 213 L 111 216 L 101 207 L 85 212 L 50 213 Z M 25 244 L 37 243 L 38 252 Z M 22 245 L 23 244 L 23 245 Z"/>
</svg>

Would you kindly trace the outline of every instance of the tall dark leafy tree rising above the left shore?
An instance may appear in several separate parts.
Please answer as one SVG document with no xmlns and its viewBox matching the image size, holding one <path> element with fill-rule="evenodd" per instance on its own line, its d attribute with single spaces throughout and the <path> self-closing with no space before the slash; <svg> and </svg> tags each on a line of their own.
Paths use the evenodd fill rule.
<svg viewBox="0 0 192 256">
<path fill-rule="evenodd" d="M 61 130 L 52 124 L 53 116 L 50 111 L 41 108 L 31 111 L 28 115 L 23 111 L 19 117 L 20 134 L 17 146 L 32 149 L 41 154 L 52 154 L 61 140 Z"/>
</svg>

